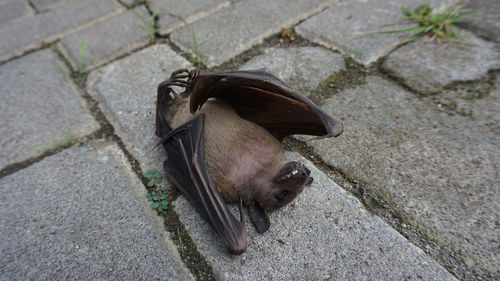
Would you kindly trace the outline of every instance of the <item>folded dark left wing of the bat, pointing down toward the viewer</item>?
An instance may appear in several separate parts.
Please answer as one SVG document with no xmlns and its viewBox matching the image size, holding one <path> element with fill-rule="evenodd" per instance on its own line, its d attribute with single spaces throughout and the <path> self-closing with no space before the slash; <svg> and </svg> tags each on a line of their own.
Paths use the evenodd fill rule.
<svg viewBox="0 0 500 281">
<path fill-rule="evenodd" d="M 222 237 L 226 249 L 231 254 L 238 255 L 245 252 L 247 247 L 242 203 L 239 206 L 239 222 L 229 211 L 208 174 L 204 152 L 204 124 L 205 115 L 200 114 L 161 136 L 168 155 L 164 168 L 170 180 Z M 163 126 L 160 124 L 160 127 Z"/>
</svg>

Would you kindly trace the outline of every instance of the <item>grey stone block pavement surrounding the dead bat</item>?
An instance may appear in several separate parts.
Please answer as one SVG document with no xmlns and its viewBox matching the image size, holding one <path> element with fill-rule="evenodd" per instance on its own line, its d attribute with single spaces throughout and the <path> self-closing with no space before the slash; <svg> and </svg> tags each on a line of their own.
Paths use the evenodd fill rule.
<svg viewBox="0 0 500 281">
<path fill-rule="evenodd" d="M 499 280 L 500 2 L 468 4 L 471 44 L 360 36 L 450 2 L 2 1 L 0 279 Z M 286 140 L 315 181 L 241 256 L 170 185 L 146 197 L 156 86 L 196 55 L 345 125 Z"/>
</svg>

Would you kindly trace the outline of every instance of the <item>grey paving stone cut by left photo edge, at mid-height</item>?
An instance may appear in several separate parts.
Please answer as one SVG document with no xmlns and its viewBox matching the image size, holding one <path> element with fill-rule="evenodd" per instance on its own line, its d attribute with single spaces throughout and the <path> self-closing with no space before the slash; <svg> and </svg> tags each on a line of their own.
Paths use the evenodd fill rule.
<svg viewBox="0 0 500 281">
<path fill-rule="evenodd" d="M 0 76 L 0 169 L 99 128 L 50 50 L 3 64 Z"/>
</svg>

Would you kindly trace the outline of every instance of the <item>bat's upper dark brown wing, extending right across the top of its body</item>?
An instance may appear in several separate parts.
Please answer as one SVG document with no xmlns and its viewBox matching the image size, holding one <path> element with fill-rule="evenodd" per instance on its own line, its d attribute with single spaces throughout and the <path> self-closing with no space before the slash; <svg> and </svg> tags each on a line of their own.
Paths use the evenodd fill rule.
<svg viewBox="0 0 500 281">
<path fill-rule="evenodd" d="M 238 114 L 273 134 L 278 140 L 294 134 L 319 138 L 337 137 L 343 125 L 308 98 L 266 69 L 219 73 L 193 70 L 186 91 L 190 110 L 198 110 L 208 98 L 231 104 Z"/>
</svg>

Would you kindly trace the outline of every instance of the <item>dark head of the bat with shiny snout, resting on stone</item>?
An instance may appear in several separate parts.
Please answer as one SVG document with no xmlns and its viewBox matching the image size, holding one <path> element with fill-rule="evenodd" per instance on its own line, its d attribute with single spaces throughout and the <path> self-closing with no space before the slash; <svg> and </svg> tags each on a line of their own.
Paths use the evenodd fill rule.
<svg viewBox="0 0 500 281">
<path fill-rule="evenodd" d="M 274 210 L 290 203 L 304 189 L 304 185 L 311 184 L 311 171 L 302 163 L 290 161 L 285 163 L 267 186 L 256 194 L 257 201 L 266 210 Z"/>
</svg>

